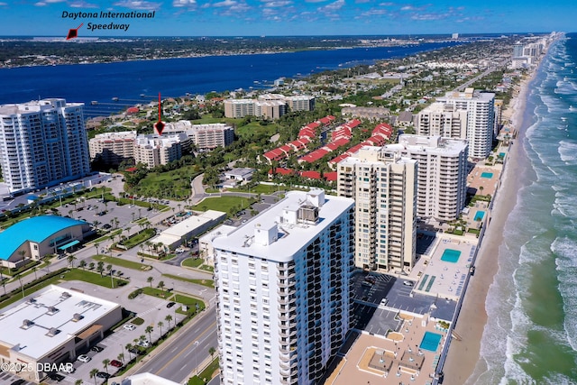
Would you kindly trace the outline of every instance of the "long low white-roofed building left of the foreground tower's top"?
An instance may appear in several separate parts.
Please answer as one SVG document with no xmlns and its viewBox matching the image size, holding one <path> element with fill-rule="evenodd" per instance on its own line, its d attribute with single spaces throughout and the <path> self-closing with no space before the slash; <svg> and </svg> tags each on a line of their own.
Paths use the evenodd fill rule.
<svg viewBox="0 0 577 385">
<path fill-rule="evenodd" d="M 162 243 L 166 248 L 174 250 L 185 241 L 203 234 L 209 228 L 218 225 L 226 218 L 222 211 L 207 210 L 201 215 L 192 215 L 182 222 L 169 227 L 151 240 L 152 243 Z"/>
</svg>

